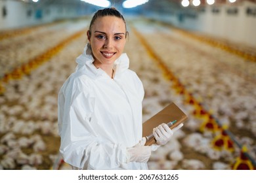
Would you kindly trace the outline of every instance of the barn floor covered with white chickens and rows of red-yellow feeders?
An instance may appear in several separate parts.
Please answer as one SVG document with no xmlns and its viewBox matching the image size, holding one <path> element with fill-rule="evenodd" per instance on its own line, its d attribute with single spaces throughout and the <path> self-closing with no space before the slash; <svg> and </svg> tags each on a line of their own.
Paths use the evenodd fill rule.
<svg viewBox="0 0 256 183">
<path fill-rule="evenodd" d="M 57 97 L 83 52 L 88 24 L 0 34 L 0 169 L 70 169 L 58 152 Z M 172 101 L 188 115 L 152 152 L 149 169 L 255 169 L 256 63 L 222 49 L 223 41 L 213 46 L 170 25 L 128 26 L 125 52 L 144 85 L 143 120 Z"/>
</svg>

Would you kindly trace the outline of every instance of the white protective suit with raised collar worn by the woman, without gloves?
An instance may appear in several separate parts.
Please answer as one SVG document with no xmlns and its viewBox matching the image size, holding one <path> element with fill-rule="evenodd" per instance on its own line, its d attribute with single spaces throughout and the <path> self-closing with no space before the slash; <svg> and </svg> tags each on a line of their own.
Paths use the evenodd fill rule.
<svg viewBox="0 0 256 183">
<path fill-rule="evenodd" d="M 126 54 L 114 63 L 114 79 L 93 65 L 87 46 L 58 95 L 60 153 L 77 169 L 148 169 L 127 162 L 127 148 L 142 139 L 144 89 Z"/>
</svg>

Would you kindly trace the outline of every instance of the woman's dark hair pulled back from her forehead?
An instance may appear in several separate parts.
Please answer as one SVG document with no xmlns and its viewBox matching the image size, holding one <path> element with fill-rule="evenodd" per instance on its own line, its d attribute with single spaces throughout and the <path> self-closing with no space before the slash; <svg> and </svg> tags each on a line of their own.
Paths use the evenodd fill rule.
<svg viewBox="0 0 256 183">
<path fill-rule="evenodd" d="M 99 17 L 103 17 L 103 16 L 116 16 L 117 18 L 121 18 L 123 20 L 123 22 L 125 23 L 125 37 L 128 34 L 127 28 L 126 28 L 126 21 L 125 18 L 123 18 L 123 15 L 114 7 L 111 8 L 104 8 L 101 10 L 98 10 L 97 12 L 95 12 L 95 14 L 93 15 L 93 18 L 91 20 L 91 24 L 89 27 L 89 35 L 91 35 L 91 27 L 93 26 L 93 24 L 95 23 L 95 20 Z"/>
</svg>

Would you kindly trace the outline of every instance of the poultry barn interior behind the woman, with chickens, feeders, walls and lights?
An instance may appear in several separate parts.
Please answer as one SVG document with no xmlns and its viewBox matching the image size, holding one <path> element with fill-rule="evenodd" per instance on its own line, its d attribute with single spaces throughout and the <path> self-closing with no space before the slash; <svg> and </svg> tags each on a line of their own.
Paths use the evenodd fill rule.
<svg viewBox="0 0 256 183">
<path fill-rule="evenodd" d="M 188 116 L 148 168 L 256 169 L 256 1 L 136 2 L 0 0 L 0 170 L 71 169 L 59 152 L 58 92 L 104 7 L 127 21 L 143 122 L 171 102 Z"/>
</svg>

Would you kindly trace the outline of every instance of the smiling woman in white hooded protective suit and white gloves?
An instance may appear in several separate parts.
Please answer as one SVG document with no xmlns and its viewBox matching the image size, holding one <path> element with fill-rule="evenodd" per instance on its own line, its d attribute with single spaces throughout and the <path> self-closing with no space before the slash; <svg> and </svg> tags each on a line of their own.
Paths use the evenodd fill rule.
<svg viewBox="0 0 256 183">
<path fill-rule="evenodd" d="M 115 8 L 98 10 L 87 31 L 88 43 L 77 69 L 60 89 L 60 152 L 74 169 L 148 169 L 152 150 L 173 131 L 160 125 L 157 144 L 144 146 L 144 89 L 123 54 L 126 23 Z"/>
</svg>

